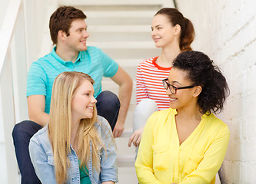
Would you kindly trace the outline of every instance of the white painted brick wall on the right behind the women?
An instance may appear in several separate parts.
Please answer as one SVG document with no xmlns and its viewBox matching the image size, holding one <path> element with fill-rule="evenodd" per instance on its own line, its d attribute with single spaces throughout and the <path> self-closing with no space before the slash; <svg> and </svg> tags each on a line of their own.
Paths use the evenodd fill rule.
<svg viewBox="0 0 256 184">
<path fill-rule="evenodd" d="M 230 95 L 218 115 L 231 131 L 222 183 L 256 183 L 256 1 L 178 0 L 196 31 L 194 50 L 221 67 Z"/>
</svg>

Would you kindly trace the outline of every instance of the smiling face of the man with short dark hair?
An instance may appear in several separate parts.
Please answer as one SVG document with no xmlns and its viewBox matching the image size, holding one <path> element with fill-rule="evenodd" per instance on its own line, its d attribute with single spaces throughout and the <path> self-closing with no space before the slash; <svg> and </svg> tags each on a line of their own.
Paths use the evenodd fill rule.
<svg viewBox="0 0 256 184">
<path fill-rule="evenodd" d="M 88 37 L 85 20 L 77 18 L 71 22 L 69 35 L 65 36 L 65 44 L 71 51 L 86 51 L 86 40 Z"/>
</svg>

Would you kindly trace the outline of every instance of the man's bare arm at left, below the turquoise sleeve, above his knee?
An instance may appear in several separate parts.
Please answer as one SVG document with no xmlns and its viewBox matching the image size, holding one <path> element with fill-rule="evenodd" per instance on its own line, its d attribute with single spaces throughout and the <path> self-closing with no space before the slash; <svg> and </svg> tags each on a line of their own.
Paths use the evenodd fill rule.
<svg viewBox="0 0 256 184">
<path fill-rule="evenodd" d="M 49 122 L 49 114 L 45 113 L 45 96 L 31 95 L 28 97 L 29 120 L 45 126 Z"/>
</svg>

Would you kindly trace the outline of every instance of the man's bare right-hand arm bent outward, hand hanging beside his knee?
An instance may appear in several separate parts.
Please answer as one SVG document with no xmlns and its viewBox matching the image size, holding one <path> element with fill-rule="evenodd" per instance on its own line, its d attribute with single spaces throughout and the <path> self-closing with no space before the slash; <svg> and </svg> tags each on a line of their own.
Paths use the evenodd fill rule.
<svg viewBox="0 0 256 184">
<path fill-rule="evenodd" d="M 119 85 L 118 97 L 120 100 L 120 110 L 118 120 L 113 130 L 114 137 L 121 136 L 125 128 L 125 118 L 131 100 L 132 80 L 131 77 L 119 66 L 117 73 L 111 77 Z"/>
</svg>

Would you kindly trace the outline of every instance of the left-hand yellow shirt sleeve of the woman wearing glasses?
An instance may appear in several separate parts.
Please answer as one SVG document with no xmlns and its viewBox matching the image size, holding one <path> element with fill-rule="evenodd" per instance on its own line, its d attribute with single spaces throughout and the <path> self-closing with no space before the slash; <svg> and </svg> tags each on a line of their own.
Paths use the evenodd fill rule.
<svg viewBox="0 0 256 184">
<path fill-rule="evenodd" d="M 138 156 L 135 162 L 135 169 L 138 177 L 138 182 L 143 184 L 161 184 L 161 182 L 155 178 L 153 172 L 153 140 L 154 140 L 154 128 L 155 113 L 149 117 L 148 122 L 145 125 L 145 129 L 142 134 L 141 143 L 138 149 Z"/>
</svg>

